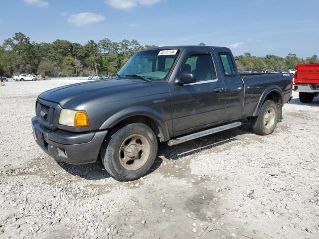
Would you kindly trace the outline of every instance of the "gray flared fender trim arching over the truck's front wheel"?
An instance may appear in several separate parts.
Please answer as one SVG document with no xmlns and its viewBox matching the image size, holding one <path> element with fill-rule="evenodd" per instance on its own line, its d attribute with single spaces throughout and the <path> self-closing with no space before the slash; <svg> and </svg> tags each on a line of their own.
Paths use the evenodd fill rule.
<svg viewBox="0 0 319 239">
<path fill-rule="evenodd" d="M 133 116 L 145 116 L 153 119 L 156 122 L 157 126 L 160 128 L 160 132 L 163 134 L 163 138 L 161 139 L 161 141 L 169 140 L 170 136 L 165 120 L 161 117 L 159 112 L 145 106 L 134 106 L 126 108 L 114 114 L 102 124 L 100 130 L 112 128 L 114 125 L 121 122 L 122 120 Z"/>
</svg>

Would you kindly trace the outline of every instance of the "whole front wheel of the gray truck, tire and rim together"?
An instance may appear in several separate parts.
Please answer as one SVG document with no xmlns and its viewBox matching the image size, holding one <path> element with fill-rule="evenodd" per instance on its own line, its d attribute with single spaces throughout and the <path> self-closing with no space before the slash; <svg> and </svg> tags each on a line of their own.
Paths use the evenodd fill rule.
<svg viewBox="0 0 319 239">
<path fill-rule="evenodd" d="M 110 132 L 103 143 L 101 158 L 112 177 L 130 181 L 150 170 L 157 151 L 158 142 L 153 130 L 144 123 L 130 123 Z"/>
</svg>

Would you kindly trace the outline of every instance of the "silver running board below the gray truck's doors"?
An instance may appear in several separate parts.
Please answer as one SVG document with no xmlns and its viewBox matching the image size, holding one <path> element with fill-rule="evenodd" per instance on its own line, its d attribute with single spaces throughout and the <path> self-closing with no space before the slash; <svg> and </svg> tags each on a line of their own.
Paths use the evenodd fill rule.
<svg viewBox="0 0 319 239">
<path fill-rule="evenodd" d="M 241 125 L 241 122 L 234 122 L 234 123 L 230 123 L 230 124 L 225 124 L 219 127 L 215 127 L 215 128 L 210 128 L 210 129 L 206 129 L 204 131 L 200 131 L 197 133 L 192 133 L 192 134 L 188 134 L 186 136 L 182 136 L 180 138 L 175 138 L 175 139 L 171 139 L 168 141 L 168 145 L 169 146 L 173 146 L 176 144 L 180 144 L 189 140 L 193 140 L 195 138 L 200 138 L 209 134 L 213 134 L 213 133 L 217 133 L 220 131 L 224 131 L 227 129 L 231 129 L 231 128 L 235 128 L 235 127 L 239 127 Z"/>
</svg>

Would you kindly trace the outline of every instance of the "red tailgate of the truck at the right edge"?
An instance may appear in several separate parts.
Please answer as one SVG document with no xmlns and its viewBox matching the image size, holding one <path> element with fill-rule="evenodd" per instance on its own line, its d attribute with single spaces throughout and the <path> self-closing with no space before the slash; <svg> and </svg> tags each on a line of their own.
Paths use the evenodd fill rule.
<svg viewBox="0 0 319 239">
<path fill-rule="evenodd" d="M 298 64 L 295 84 L 319 84 L 319 63 Z"/>
</svg>

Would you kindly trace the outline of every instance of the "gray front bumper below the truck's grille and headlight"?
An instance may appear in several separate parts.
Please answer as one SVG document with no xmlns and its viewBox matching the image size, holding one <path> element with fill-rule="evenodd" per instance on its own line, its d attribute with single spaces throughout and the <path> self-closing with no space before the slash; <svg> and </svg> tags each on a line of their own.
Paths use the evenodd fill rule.
<svg viewBox="0 0 319 239">
<path fill-rule="evenodd" d="M 49 156 L 70 164 L 96 162 L 107 130 L 72 133 L 64 130 L 52 131 L 32 118 L 32 133 L 36 143 Z"/>
</svg>

